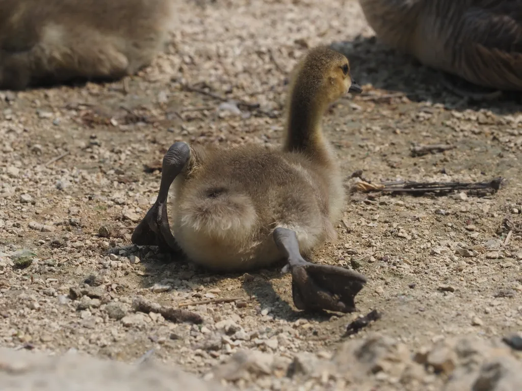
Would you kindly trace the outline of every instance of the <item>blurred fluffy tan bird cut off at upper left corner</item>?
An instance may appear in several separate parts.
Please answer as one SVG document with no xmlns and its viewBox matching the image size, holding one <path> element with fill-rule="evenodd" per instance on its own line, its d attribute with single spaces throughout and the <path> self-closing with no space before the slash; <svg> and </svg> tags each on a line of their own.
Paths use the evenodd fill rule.
<svg viewBox="0 0 522 391">
<path fill-rule="evenodd" d="M 171 13 L 172 0 L 0 0 L 0 88 L 134 74 Z"/>
</svg>

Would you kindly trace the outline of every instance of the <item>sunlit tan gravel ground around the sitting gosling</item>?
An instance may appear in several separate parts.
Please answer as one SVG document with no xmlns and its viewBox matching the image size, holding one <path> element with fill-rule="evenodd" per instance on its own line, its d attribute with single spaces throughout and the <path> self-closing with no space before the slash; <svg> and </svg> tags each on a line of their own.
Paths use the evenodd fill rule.
<svg viewBox="0 0 522 391">
<path fill-rule="evenodd" d="M 255 356 L 259 365 L 262 357 L 272 360 L 260 371 L 271 377 L 228 381 L 280 389 L 297 384 L 283 376 L 296 355 L 330 360 L 373 332 L 421 354 L 454 336 L 499 340 L 520 331 L 519 104 L 472 104 L 447 93 L 436 72 L 382 46 L 353 1 L 199 0 L 178 7 L 169 52 L 136 77 L 0 93 L 1 346 L 77 349 L 126 362 L 154 349 L 155 359 L 205 379 L 216 377 L 219 365 L 250 362 L 241 359 L 247 349 L 265 355 Z M 317 249 L 314 261 L 369 279 L 354 314 L 296 311 L 290 276 L 278 270 L 213 275 L 131 246 L 169 146 L 278 144 L 288 72 L 317 44 L 347 54 L 364 89 L 325 117 L 347 189 L 359 180 L 351 174 L 363 170 L 373 183 L 503 177 L 500 191 L 353 193 L 338 241 Z M 455 148 L 413 157 L 415 143 Z M 187 313 L 176 312 L 179 306 Z M 343 336 L 348 323 L 373 309 L 383 313 L 380 320 Z M 188 322 L 176 323 L 180 317 Z M 396 389 L 388 377 L 372 376 L 387 384 L 375 389 Z M 445 381 L 425 376 L 432 376 L 431 389 Z"/>
</svg>

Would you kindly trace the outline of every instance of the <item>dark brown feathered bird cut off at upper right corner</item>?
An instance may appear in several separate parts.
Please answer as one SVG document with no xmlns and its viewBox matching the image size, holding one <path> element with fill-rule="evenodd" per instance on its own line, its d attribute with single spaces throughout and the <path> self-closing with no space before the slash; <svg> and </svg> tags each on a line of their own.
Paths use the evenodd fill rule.
<svg viewBox="0 0 522 391">
<path fill-rule="evenodd" d="M 522 0 L 359 0 L 383 42 L 482 87 L 522 90 Z"/>
</svg>

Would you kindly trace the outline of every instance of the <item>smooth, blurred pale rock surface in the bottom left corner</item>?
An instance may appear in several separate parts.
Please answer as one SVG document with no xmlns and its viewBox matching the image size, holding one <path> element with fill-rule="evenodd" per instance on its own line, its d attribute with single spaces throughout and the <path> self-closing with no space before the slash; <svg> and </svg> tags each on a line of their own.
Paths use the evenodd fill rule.
<svg viewBox="0 0 522 391">
<path fill-rule="evenodd" d="M 153 362 L 140 365 L 101 360 L 81 353 L 48 356 L 44 353 L 0 348 L 2 391 L 220 391 L 220 386 L 199 380 L 179 369 Z"/>
</svg>

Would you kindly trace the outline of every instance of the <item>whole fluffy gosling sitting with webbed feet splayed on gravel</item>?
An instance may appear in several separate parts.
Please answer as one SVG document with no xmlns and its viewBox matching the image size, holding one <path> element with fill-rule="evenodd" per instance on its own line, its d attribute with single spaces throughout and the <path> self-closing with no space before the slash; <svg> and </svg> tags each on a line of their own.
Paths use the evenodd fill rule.
<svg viewBox="0 0 522 391">
<path fill-rule="evenodd" d="M 282 148 L 174 143 L 163 158 L 156 203 L 132 242 L 181 250 L 215 271 L 286 260 L 283 272 L 292 273 L 298 309 L 353 311 L 364 276 L 303 258 L 336 238 L 344 190 L 321 123 L 328 106 L 347 92 L 362 92 L 348 59 L 317 47 L 294 70 Z M 174 202 L 167 206 L 171 184 Z"/>
</svg>

